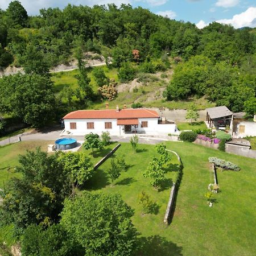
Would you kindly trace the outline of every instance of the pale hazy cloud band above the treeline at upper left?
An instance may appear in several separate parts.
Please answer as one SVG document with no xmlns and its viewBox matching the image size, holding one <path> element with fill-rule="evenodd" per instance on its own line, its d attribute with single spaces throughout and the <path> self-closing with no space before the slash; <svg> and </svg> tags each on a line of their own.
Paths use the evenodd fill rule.
<svg viewBox="0 0 256 256">
<path fill-rule="evenodd" d="M 0 8 L 5 10 L 9 3 L 13 0 L 0 0 Z M 59 7 L 63 9 L 68 3 L 71 5 L 106 5 L 108 3 L 114 3 L 117 6 L 120 6 L 121 3 L 131 3 L 131 0 L 19 0 L 23 7 L 27 10 L 29 15 L 39 14 L 40 9 L 49 8 L 49 7 Z M 150 0 L 152 2 L 157 2 L 156 0 Z M 165 0 L 161 0 L 165 1 Z"/>
</svg>

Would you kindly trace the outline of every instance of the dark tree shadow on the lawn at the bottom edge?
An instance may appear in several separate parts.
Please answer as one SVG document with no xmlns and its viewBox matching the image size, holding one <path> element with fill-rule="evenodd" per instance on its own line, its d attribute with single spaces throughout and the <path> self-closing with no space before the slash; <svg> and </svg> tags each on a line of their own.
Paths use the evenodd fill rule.
<svg viewBox="0 0 256 256">
<path fill-rule="evenodd" d="M 176 245 L 176 243 L 167 241 L 166 238 L 158 235 L 151 237 L 138 238 L 138 250 L 134 252 L 134 255 L 140 256 L 168 256 L 179 255 L 182 247 Z"/>
</svg>

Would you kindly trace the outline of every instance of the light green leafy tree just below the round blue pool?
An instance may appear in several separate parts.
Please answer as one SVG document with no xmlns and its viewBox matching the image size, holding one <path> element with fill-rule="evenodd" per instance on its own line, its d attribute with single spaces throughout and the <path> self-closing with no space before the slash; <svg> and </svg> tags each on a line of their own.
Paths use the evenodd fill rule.
<svg viewBox="0 0 256 256">
<path fill-rule="evenodd" d="M 93 164 L 85 152 L 61 152 L 59 160 L 72 183 L 72 195 L 75 195 L 77 186 L 83 185 L 93 176 Z"/>
</svg>

